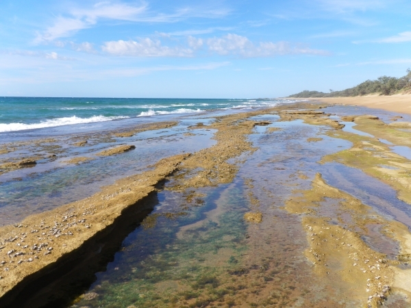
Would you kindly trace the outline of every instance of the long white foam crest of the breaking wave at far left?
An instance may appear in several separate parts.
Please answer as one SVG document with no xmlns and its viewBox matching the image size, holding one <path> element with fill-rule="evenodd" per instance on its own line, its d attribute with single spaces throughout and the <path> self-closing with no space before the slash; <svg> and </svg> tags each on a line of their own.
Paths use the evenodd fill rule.
<svg viewBox="0 0 411 308">
<path fill-rule="evenodd" d="M 4 131 L 22 131 L 23 129 L 38 129 L 43 127 L 55 127 L 62 125 L 84 124 L 94 122 L 105 122 L 117 120 L 121 118 L 129 118 L 129 116 L 92 116 L 91 118 L 79 118 L 70 116 L 66 118 L 53 118 L 51 120 L 41 121 L 40 123 L 24 124 L 24 123 L 0 123 L 0 132 Z"/>
</svg>

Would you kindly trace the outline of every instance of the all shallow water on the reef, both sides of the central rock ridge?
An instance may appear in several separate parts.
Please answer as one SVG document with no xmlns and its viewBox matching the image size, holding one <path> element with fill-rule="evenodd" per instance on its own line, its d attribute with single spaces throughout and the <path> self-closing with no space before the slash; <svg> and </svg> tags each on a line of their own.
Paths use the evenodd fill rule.
<svg viewBox="0 0 411 308">
<path fill-rule="evenodd" d="M 329 107 L 326 112 L 333 109 L 340 115 L 370 113 L 355 107 Z M 389 116 L 384 112 L 375 114 L 387 119 Z M 214 144 L 214 131 L 207 128 L 213 120 L 210 114 L 179 119 L 177 127 L 112 142 L 136 145 L 136 150 L 128 153 L 78 166 L 62 166 L 59 159 L 47 163 L 53 168 L 41 169 L 39 164 L 10 172 L 0 185 L 0 223 L 84 198 L 101 185 L 141 172 L 171 153 L 198 151 Z M 154 211 L 125 238 L 106 270 L 96 274 L 95 283 L 71 306 L 360 307 L 358 298 L 347 296 L 353 291 L 349 284 L 333 274 L 320 277 L 314 273 L 304 256 L 308 240 L 301 215 L 289 214 L 284 209 L 286 201 L 301 194 L 301 190 L 310 190 L 319 172 L 329 185 L 408 227 L 411 206 L 399 201 L 390 186 L 358 169 L 337 163 L 319 164 L 324 155 L 352 145 L 327 136 L 329 127 L 278 119 L 276 114 L 251 118 L 271 124 L 256 126 L 249 136 L 258 148 L 256 152 L 231 159 L 243 161 L 233 183 L 188 192 L 158 192 L 159 203 Z M 197 123 L 203 123 L 204 129 L 188 129 Z M 270 127 L 278 130 L 269 132 Z M 184 136 L 188 131 L 196 136 Z M 316 139 L 308 142 L 309 138 Z M 94 146 L 97 150 L 104 145 Z M 67 157 L 74 155 L 73 151 Z M 76 151 L 90 155 L 86 148 Z M 32 175 L 27 176 L 29 172 Z M 15 179 L 18 176 L 22 179 Z M 166 189 L 173 181 L 172 177 Z M 330 224 L 349 229 L 353 216 L 339 202 L 326 198 L 316 208 L 317 214 L 329 218 Z M 262 222 L 245 222 L 243 216 L 248 211 L 262 213 Z M 395 259 L 397 242 L 387 238 L 379 224 L 367 224 L 366 228 L 362 240 L 388 259 Z M 386 305 L 406 307 L 400 301 L 393 298 Z"/>
</svg>

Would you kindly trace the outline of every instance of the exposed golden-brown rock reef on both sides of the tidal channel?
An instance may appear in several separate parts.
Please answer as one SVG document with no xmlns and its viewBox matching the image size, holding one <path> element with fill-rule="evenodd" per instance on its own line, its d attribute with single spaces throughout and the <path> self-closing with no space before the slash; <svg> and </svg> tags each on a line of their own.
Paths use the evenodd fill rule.
<svg viewBox="0 0 411 308">
<path fill-rule="evenodd" d="M 324 101 L 323 103 L 327 102 Z M 98 255 L 101 247 L 110 242 L 112 228 L 119 224 L 119 219 L 127 220 L 125 216 L 130 213 L 131 209 L 137 211 L 139 218 L 136 218 L 133 223 L 128 222 L 127 224 L 136 227 L 136 224 L 139 224 L 155 206 L 155 194 L 157 192 L 164 189 L 184 192 L 189 193 L 187 199 L 192 199 L 196 196 L 193 189 L 212 188 L 223 183 L 232 183 L 240 164 L 242 164 L 241 160 L 247 160 L 247 157 L 259 150 L 249 141 L 248 136 L 274 123 L 269 120 L 251 119 L 256 116 L 278 116 L 276 123 L 279 123 L 279 125 L 301 120 L 308 126 L 325 127 L 324 136 L 346 140 L 351 142 L 352 145 L 347 150 L 325 155 L 320 164 L 339 162 L 363 170 L 371 177 L 390 185 L 402 200 L 411 202 L 411 194 L 407 190 L 411 187 L 411 181 L 403 176 L 403 171 L 411 171 L 411 164 L 408 163 L 408 159 L 393 155 L 388 146 L 377 143 L 377 139 L 375 139 L 384 138 L 384 140 L 393 142 L 393 144 L 402 145 L 407 144 L 410 133 L 399 132 L 395 127 L 390 127 L 391 130 L 386 133 L 384 127 L 388 127 L 388 125 L 382 123 L 377 117 L 352 116 L 349 118 L 349 114 L 347 114 L 345 119 L 330 118 L 333 113 L 328 112 L 328 108 L 332 107 L 321 103 L 301 102 L 214 117 L 214 122 L 206 127 L 207 129 L 216 130 L 212 138 L 216 140 L 216 144 L 213 146 L 192 154 L 176 155 L 162 159 L 153 166 L 152 170 L 120 179 L 88 198 L 62 205 L 42 214 L 29 216 L 20 224 L 1 227 L 0 231 L 5 239 L 2 240 L 4 241 L 2 244 L 0 243 L 3 246 L 0 248 L 0 259 L 3 257 L 3 260 L 13 262 L 0 265 L 3 273 L 5 273 L 0 274 L 0 276 L 3 276 L 0 279 L 0 305 L 2 307 L 13 307 L 13 305 L 16 307 L 15 304 L 18 303 L 19 307 L 33 307 L 28 306 L 30 304 L 24 303 L 24 301 L 16 301 L 16 298 L 21 296 L 21 292 L 27 295 L 27 298 L 23 296 L 24 300 L 34 300 L 31 305 L 38 303 L 39 305 L 36 307 L 51 303 L 53 294 L 47 293 L 47 286 L 53 285 L 56 281 L 55 276 L 60 276 L 64 272 L 64 270 L 62 272 L 62 269 L 69 262 L 68 259 L 72 257 L 73 260 L 78 260 L 79 256 L 84 255 L 84 251 L 87 251 L 88 248 L 97 251 L 94 254 Z M 344 121 L 353 121 L 358 129 L 375 137 L 357 136 L 354 133 L 343 131 L 345 125 L 341 122 Z M 197 123 L 197 125 L 189 127 L 190 131 L 204 128 L 203 123 L 201 125 Z M 127 132 L 125 133 L 128 135 Z M 269 134 L 267 136 L 276 136 L 275 134 L 280 135 L 281 133 L 282 129 L 276 127 L 266 129 L 266 134 Z M 323 142 L 323 138 L 312 137 L 306 140 L 307 144 L 313 144 L 313 146 L 318 142 Z M 371 147 L 374 148 L 373 151 L 369 150 Z M 379 156 L 385 155 L 389 158 L 375 160 L 376 158 L 373 157 L 374 152 Z M 119 153 L 119 155 L 123 154 Z M 352 160 L 349 155 L 354 155 L 354 159 Z M 368 165 L 362 161 L 360 164 L 356 164 L 357 157 L 362 157 L 359 155 L 365 157 Z M 234 162 L 234 160 L 236 161 Z M 383 168 L 384 170 L 382 170 L 380 167 L 382 164 L 390 168 L 386 170 Z M 399 171 L 395 170 L 394 172 L 391 168 L 394 166 Z M 377 167 L 379 169 L 376 169 Z M 379 173 L 375 173 L 375 170 Z M 387 179 L 387 174 L 391 177 L 390 179 Z M 300 175 L 301 181 L 309 180 L 305 175 Z M 393 178 L 396 181 L 393 181 Z M 327 281 L 332 282 L 332 279 L 346 281 L 346 287 L 349 287 L 352 293 L 350 296 L 362 303 L 366 303 L 366 298 L 371 296 L 368 302 L 369 307 L 378 307 L 379 302 L 386 298 L 390 292 L 403 292 L 411 295 L 410 287 L 398 279 L 398 277 L 411 277 L 408 270 L 397 268 L 397 266 L 403 264 L 401 260 L 408 260 L 408 255 L 411 253 L 411 233 L 404 224 L 396 220 L 388 220 L 377 214 L 371 207 L 363 205 L 353 196 L 332 187 L 329 183 L 325 183 L 321 179 L 321 175 L 314 177 L 311 189 L 295 190 L 293 194 L 295 196 L 292 195 L 288 201 L 285 201 L 284 209 L 288 211 L 290 216 L 295 216 L 295 219 L 301 221 L 303 233 L 306 233 L 309 244 L 304 255 L 312 264 L 313 273 L 322 277 L 321 279 L 325 283 Z M 267 223 L 267 214 L 263 213 L 264 210 L 258 198 L 253 195 L 250 195 L 250 198 L 249 212 L 244 217 L 250 228 L 255 229 L 258 224 Z M 341 227 L 335 227 L 334 224 L 329 222 L 332 219 L 329 213 L 325 212 L 326 214 L 322 214 L 325 217 L 321 216 L 319 214 L 321 207 L 323 207 L 321 203 L 325 201 L 325 198 L 335 199 L 336 201 L 343 200 L 343 203 L 338 205 L 339 210 L 344 213 L 351 213 L 353 226 L 343 224 Z M 139 211 L 144 213 L 140 215 L 138 214 Z M 319 212 L 317 213 L 317 211 Z M 253 215 L 258 215 L 259 219 L 247 220 L 247 217 Z M 155 224 L 155 221 L 152 224 Z M 387 261 L 384 254 L 374 251 L 374 248 L 369 248 L 368 244 L 360 238 L 361 232 L 369 236 L 368 231 L 366 231 L 369 224 L 390 224 L 390 228 L 383 228 L 381 233 L 399 243 L 401 250 L 397 255 L 398 261 Z M 358 231 L 358 227 L 364 231 Z M 129 228 L 125 229 L 120 233 L 126 235 Z M 314 230 L 319 233 L 318 236 L 312 233 Z M 320 233 L 322 233 L 321 236 Z M 341 236 L 341 234 L 345 235 Z M 348 239 L 345 240 L 348 244 L 343 242 L 338 245 L 340 245 L 339 249 L 347 251 L 349 255 L 343 256 L 333 253 L 335 247 L 331 243 L 335 240 L 336 235 L 338 235 L 338 238 L 345 237 Z M 109 255 L 118 248 L 121 237 L 113 240 L 116 244 L 113 244 L 115 247 L 111 250 L 108 249 Z M 12 252 L 9 253 L 10 251 Z M 29 253 L 26 253 L 26 251 L 29 251 Z M 21 254 L 22 252 L 23 254 Z M 371 259 L 370 256 L 375 256 L 377 260 L 374 268 L 369 266 L 367 270 L 360 270 L 360 268 L 354 268 L 355 270 L 353 270 L 350 258 L 361 259 L 362 263 L 367 264 Z M 22 259 L 22 262 L 20 262 L 20 259 Z M 89 261 L 90 259 L 86 258 L 86 260 Z M 329 268 L 325 261 L 327 264 L 340 264 L 338 271 L 334 272 L 334 269 Z M 6 267 L 8 270 L 5 270 Z M 77 270 L 79 269 L 77 268 Z M 381 280 L 374 278 L 379 270 L 381 270 L 381 276 L 384 273 Z M 332 272 L 332 274 L 329 275 L 329 272 Z M 70 276 L 69 272 L 65 274 Z M 62 276 L 63 278 L 66 277 L 64 274 Z M 371 283 L 367 283 L 367 279 L 369 281 L 376 280 L 375 285 L 369 286 Z M 39 281 L 45 283 L 42 286 L 44 289 L 39 288 Z M 384 282 L 384 287 L 381 286 L 382 282 Z M 33 290 L 36 290 L 38 294 L 30 293 L 34 292 L 30 287 L 32 285 L 37 285 L 37 288 Z M 369 291 L 365 292 L 365 288 L 362 290 L 364 285 L 367 285 L 366 289 Z M 375 294 L 383 294 L 383 297 L 375 296 Z M 77 295 L 70 294 L 70 296 Z M 42 304 L 40 305 L 40 303 Z M 194 301 L 192 300 L 190 303 L 194 303 Z"/>
</svg>

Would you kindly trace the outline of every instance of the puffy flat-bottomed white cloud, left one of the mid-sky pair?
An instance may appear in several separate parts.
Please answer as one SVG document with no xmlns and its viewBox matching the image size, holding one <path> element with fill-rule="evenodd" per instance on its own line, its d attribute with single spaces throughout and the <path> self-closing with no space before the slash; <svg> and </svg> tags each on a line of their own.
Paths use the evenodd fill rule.
<svg viewBox="0 0 411 308">
<path fill-rule="evenodd" d="M 135 40 L 115 40 L 105 42 L 101 47 L 111 55 L 132 55 L 136 57 L 191 57 L 193 50 L 184 47 L 162 46 L 160 40 L 140 38 Z"/>
</svg>

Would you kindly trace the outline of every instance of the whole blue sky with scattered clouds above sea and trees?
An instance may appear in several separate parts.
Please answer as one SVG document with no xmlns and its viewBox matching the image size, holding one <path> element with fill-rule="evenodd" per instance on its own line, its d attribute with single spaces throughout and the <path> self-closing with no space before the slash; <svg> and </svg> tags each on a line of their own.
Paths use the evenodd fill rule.
<svg viewBox="0 0 411 308">
<path fill-rule="evenodd" d="M 273 98 L 411 67 L 409 0 L 2 0 L 0 12 L 0 96 Z"/>
</svg>

